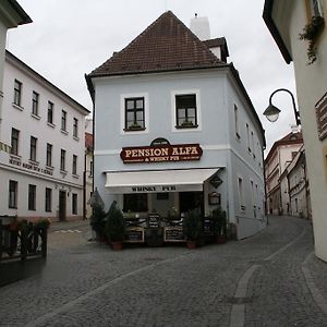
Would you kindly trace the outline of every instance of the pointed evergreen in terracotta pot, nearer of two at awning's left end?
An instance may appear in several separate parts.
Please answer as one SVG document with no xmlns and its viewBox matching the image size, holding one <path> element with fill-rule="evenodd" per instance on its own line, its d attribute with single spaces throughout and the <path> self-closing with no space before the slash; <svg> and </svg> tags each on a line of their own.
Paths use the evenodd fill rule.
<svg viewBox="0 0 327 327">
<path fill-rule="evenodd" d="M 113 201 L 107 215 L 106 235 L 112 250 L 121 250 L 125 233 L 125 222 L 122 211 Z"/>
</svg>

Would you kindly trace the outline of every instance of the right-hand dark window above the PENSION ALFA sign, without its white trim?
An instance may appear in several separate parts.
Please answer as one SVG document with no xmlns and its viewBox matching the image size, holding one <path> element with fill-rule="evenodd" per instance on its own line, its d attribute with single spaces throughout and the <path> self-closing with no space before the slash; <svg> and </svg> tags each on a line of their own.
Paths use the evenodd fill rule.
<svg viewBox="0 0 327 327">
<path fill-rule="evenodd" d="M 196 95 L 175 95 L 175 121 L 178 129 L 197 128 Z"/>
</svg>

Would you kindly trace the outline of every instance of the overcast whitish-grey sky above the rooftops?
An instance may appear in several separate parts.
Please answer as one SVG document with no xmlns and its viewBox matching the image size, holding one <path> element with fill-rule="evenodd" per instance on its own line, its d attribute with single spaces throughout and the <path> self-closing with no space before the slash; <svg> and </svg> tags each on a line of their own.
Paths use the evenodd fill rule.
<svg viewBox="0 0 327 327">
<path fill-rule="evenodd" d="M 165 11 L 186 26 L 195 13 L 207 16 L 211 38 L 225 36 L 229 62 L 241 80 L 266 131 L 267 149 L 294 124 L 291 98 L 274 96 L 282 110 L 276 123 L 262 114 L 269 95 L 289 88 L 288 65 L 262 19 L 264 0 L 19 0 L 33 23 L 9 31 L 7 48 L 32 69 L 92 110 L 85 73 L 120 51 Z"/>
</svg>

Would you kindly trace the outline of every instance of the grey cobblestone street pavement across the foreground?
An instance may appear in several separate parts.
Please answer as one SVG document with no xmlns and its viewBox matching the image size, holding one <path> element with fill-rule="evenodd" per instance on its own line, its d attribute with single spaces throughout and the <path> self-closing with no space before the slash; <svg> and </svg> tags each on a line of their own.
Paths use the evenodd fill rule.
<svg viewBox="0 0 327 327">
<path fill-rule="evenodd" d="M 0 326 L 327 326 L 311 225 L 269 221 L 240 242 L 120 252 L 89 242 L 87 221 L 53 223 L 43 271 L 0 289 Z"/>
</svg>

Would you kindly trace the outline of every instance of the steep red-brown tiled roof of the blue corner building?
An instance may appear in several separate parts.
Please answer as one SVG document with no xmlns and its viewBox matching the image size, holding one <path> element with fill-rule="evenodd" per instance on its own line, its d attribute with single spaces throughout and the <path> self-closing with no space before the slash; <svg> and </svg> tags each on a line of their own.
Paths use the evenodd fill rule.
<svg viewBox="0 0 327 327">
<path fill-rule="evenodd" d="M 226 65 L 171 11 L 165 12 L 89 77 Z"/>
</svg>

